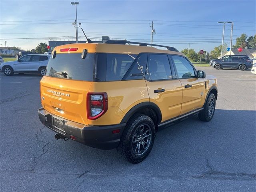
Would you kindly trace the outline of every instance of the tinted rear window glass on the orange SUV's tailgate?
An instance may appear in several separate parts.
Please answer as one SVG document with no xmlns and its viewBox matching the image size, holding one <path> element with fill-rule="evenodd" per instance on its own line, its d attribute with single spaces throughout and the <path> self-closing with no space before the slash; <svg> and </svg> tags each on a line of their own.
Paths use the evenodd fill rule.
<svg viewBox="0 0 256 192">
<path fill-rule="evenodd" d="M 81 56 L 82 53 L 56 54 L 48 62 L 46 76 L 93 81 L 95 54 L 87 53 L 84 59 Z"/>
</svg>

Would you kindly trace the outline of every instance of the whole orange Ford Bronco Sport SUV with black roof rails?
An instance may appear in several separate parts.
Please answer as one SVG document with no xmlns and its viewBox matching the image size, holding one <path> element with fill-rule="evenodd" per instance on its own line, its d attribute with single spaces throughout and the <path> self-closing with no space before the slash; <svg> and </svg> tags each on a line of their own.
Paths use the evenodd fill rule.
<svg viewBox="0 0 256 192">
<path fill-rule="evenodd" d="M 139 163 L 159 127 L 195 114 L 210 121 L 216 78 L 197 71 L 175 48 L 147 45 L 109 40 L 54 48 L 40 82 L 41 122 L 56 139 L 117 148 Z"/>
</svg>

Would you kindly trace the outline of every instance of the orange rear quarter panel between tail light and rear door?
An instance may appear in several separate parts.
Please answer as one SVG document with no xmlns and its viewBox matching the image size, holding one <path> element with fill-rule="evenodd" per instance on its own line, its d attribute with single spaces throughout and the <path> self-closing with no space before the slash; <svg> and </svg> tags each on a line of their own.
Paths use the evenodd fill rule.
<svg viewBox="0 0 256 192">
<path fill-rule="evenodd" d="M 119 124 L 132 107 L 149 102 L 145 80 L 93 82 L 90 92 L 108 94 L 108 110 L 100 118 L 88 120 L 91 125 Z"/>
</svg>

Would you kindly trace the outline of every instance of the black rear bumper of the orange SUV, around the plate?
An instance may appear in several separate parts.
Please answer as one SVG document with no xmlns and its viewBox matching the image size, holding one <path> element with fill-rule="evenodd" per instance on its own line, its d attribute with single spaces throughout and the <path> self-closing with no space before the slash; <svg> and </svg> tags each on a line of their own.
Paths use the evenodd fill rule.
<svg viewBox="0 0 256 192">
<path fill-rule="evenodd" d="M 83 143 L 85 145 L 99 148 L 99 149 L 113 149 L 116 148 L 120 142 L 120 137 L 126 126 L 126 123 L 117 124 L 117 125 L 108 125 L 108 126 L 92 126 L 76 123 L 70 120 L 54 116 L 44 108 L 38 110 L 38 116 L 40 121 L 49 129 L 54 132 L 70 138 L 70 136 L 75 136 L 76 141 Z M 64 131 L 53 126 L 53 118 L 56 117 L 60 120 L 64 120 Z M 120 132 L 113 134 L 113 130 L 120 129 Z"/>
</svg>

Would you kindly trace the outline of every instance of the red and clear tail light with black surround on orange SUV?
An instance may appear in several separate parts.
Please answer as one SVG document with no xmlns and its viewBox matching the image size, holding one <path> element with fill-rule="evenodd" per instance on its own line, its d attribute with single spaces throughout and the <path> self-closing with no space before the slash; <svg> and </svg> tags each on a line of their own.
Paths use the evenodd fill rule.
<svg viewBox="0 0 256 192">
<path fill-rule="evenodd" d="M 87 94 L 87 118 L 95 120 L 108 110 L 107 93 L 88 93 Z"/>
</svg>

